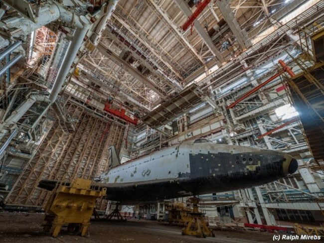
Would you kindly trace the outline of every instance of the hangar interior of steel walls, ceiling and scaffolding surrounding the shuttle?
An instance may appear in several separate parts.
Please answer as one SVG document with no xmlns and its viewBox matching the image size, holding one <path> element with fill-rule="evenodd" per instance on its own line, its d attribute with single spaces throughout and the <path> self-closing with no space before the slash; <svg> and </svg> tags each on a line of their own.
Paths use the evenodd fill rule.
<svg viewBox="0 0 324 243">
<path fill-rule="evenodd" d="M 123 163 L 205 138 L 299 164 L 272 183 L 201 195 L 210 225 L 323 223 L 322 0 L 0 4 L 5 210 L 43 210 L 42 179 L 94 180 L 112 145 Z M 185 199 L 121 212 L 162 220 L 169 202 Z M 102 199 L 97 210 L 113 205 Z"/>
</svg>

